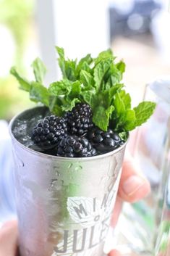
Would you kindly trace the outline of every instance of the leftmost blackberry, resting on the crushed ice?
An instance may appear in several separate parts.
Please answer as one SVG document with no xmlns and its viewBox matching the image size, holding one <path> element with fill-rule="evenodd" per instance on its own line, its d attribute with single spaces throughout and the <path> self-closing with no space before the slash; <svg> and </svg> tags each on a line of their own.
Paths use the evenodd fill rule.
<svg viewBox="0 0 170 256">
<path fill-rule="evenodd" d="M 52 149 L 67 136 L 67 122 L 64 117 L 50 115 L 33 128 L 32 139 L 41 149 Z"/>
</svg>

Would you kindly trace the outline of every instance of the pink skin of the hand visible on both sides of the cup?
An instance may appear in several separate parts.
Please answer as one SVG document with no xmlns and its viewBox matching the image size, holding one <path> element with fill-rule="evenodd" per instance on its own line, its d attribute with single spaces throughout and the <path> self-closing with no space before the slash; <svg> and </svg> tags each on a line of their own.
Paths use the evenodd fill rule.
<svg viewBox="0 0 170 256">
<path fill-rule="evenodd" d="M 146 197 L 149 192 L 148 180 L 137 170 L 130 157 L 125 158 L 111 226 L 116 226 L 123 201 L 137 202 Z M 17 237 L 17 220 L 10 220 L 0 228 L 0 256 L 19 256 Z M 114 250 L 109 253 L 109 256 L 121 255 Z"/>
</svg>

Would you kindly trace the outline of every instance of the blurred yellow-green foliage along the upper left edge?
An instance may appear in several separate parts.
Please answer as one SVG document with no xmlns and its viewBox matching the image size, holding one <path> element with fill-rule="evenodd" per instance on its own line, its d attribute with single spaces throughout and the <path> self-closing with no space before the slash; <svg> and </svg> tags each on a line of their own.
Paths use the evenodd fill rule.
<svg viewBox="0 0 170 256">
<path fill-rule="evenodd" d="M 0 23 L 7 26 L 14 37 L 16 52 L 14 65 L 25 71 L 23 54 L 29 31 L 33 28 L 33 0 L 0 0 Z M 5 61 L 5 60 L 4 60 Z M 20 91 L 12 75 L 0 78 L 0 119 L 9 120 L 17 112 L 33 103 Z"/>
</svg>

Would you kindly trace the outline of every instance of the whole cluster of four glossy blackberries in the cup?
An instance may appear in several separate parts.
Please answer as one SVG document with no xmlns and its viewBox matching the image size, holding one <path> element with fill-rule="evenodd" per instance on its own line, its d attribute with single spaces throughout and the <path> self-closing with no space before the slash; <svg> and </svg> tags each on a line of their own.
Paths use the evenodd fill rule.
<svg viewBox="0 0 170 256">
<path fill-rule="evenodd" d="M 64 117 L 45 117 L 33 128 L 32 139 L 43 152 L 61 157 L 91 157 L 124 144 L 111 129 L 104 132 L 93 125 L 88 104 L 77 104 Z"/>
</svg>

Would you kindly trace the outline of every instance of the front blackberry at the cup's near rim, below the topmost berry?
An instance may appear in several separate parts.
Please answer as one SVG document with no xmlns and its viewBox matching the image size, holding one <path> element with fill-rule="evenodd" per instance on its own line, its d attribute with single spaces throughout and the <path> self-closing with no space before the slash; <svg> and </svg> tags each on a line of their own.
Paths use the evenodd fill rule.
<svg viewBox="0 0 170 256">
<path fill-rule="evenodd" d="M 61 157 L 92 157 L 95 154 L 96 150 L 83 137 L 67 136 L 56 146 L 56 155 Z"/>
</svg>

